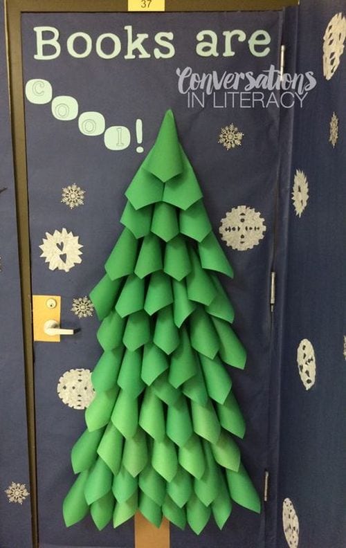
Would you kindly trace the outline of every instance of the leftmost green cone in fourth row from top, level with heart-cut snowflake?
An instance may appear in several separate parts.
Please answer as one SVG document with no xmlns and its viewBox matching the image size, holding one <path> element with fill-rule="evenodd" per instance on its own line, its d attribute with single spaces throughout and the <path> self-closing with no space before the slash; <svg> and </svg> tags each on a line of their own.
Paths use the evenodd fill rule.
<svg viewBox="0 0 346 548">
<path fill-rule="evenodd" d="M 134 272 L 137 258 L 137 244 L 138 242 L 131 230 L 124 228 L 104 265 L 111 280 L 128 276 Z"/>
</svg>

